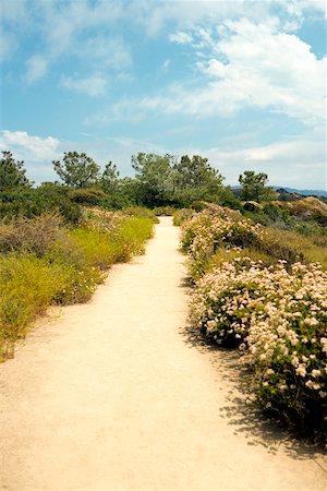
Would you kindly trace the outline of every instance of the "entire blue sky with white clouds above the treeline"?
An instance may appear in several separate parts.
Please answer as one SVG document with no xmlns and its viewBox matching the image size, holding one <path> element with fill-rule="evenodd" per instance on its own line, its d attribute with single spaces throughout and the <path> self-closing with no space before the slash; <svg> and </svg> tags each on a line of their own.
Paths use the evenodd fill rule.
<svg viewBox="0 0 327 491">
<path fill-rule="evenodd" d="M 36 182 L 86 152 L 199 154 L 326 189 L 324 0 L 2 0 L 1 149 Z"/>
</svg>

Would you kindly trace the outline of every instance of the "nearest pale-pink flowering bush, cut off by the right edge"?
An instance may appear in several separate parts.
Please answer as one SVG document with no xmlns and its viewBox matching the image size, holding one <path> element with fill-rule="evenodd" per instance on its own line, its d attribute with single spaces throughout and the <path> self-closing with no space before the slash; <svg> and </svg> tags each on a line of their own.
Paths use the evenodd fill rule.
<svg viewBox="0 0 327 491">
<path fill-rule="evenodd" d="M 264 315 L 252 316 L 243 362 L 265 410 L 302 434 L 326 438 L 327 274 L 300 263 L 279 274 L 280 298 L 268 297 Z"/>
</svg>

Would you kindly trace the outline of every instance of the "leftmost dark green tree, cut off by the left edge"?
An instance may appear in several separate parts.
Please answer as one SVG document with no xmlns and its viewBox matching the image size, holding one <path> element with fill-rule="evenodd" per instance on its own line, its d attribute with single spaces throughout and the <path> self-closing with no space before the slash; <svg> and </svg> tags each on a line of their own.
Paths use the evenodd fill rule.
<svg viewBox="0 0 327 491">
<path fill-rule="evenodd" d="M 31 188 L 32 182 L 25 176 L 24 161 L 16 161 L 9 151 L 2 152 L 0 159 L 0 189 L 14 189 L 16 187 Z"/>
</svg>

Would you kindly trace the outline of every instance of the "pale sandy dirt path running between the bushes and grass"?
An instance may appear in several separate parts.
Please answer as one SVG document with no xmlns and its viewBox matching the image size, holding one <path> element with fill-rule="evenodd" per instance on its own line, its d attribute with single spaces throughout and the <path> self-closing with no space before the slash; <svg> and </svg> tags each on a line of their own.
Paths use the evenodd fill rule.
<svg viewBox="0 0 327 491">
<path fill-rule="evenodd" d="M 177 248 L 162 218 L 145 256 L 0 367 L 1 490 L 326 490 L 318 451 L 244 409 L 233 356 L 183 334 Z"/>
</svg>

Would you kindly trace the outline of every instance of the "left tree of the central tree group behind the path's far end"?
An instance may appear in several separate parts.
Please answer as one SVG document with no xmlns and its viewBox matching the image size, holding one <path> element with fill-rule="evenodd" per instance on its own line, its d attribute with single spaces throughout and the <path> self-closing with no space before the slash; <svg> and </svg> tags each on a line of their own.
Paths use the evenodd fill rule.
<svg viewBox="0 0 327 491">
<path fill-rule="evenodd" d="M 170 203 L 173 191 L 173 156 L 138 153 L 132 156 L 132 167 L 146 206 Z"/>
</svg>

